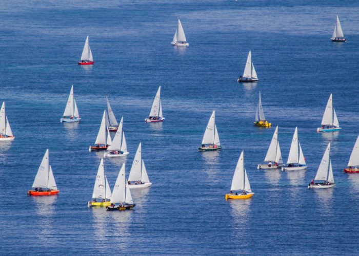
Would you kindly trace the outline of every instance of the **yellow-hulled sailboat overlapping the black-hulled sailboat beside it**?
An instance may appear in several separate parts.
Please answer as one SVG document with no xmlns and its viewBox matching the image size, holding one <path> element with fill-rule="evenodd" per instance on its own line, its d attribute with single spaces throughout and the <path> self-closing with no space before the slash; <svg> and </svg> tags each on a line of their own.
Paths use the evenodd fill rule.
<svg viewBox="0 0 359 256">
<path fill-rule="evenodd" d="M 87 203 L 88 207 L 91 206 L 109 206 L 111 198 L 111 188 L 108 184 L 107 177 L 105 175 L 104 159 L 101 159 L 99 163 L 95 185 L 93 186 L 92 199 Z M 98 201 L 97 201 L 98 200 Z"/>
</svg>

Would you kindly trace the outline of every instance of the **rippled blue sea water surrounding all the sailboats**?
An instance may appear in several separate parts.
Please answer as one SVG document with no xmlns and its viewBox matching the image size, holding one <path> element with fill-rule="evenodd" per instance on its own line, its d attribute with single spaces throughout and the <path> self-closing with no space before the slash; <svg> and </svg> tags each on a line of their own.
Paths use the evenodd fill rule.
<svg viewBox="0 0 359 256">
<path fill-rule="evenodd" d="M 1 253 L 357 254 L 359 175 L 343 168 L 359 134 L 359 3 L 313 2 L 0 2 L 0 100 L 16 136 L 0 145 Z M 345 44 L 329 40 L 336 14 Z M 170 45 L 177 18 L 189 48 Z M 238 84 L 249 50 L 260 82 Z M 62 124 L 71 84 L 82 121 Z M 147 124 L 159 84 L 166 120 Z M 271 129 L 253 125 L 260 90 Z M 330 93 L 343 130 L 317 134 Z M 111 187 L 140 141 L 153 183 L 126 212 L 87 207 L 106 95 L 130 152 L 105 160 Z M 213 110 L 223 150 L 197 152 Z M 306 172 L 256 169 L 275 125 L 284 161 L 298 126 Z M 328 142 L 337 185 L 309 190 Z M 61 192 L 28 197 L 46 148 Z M 226 202 L 242 150 L 255 195 Z"/>
</svg>

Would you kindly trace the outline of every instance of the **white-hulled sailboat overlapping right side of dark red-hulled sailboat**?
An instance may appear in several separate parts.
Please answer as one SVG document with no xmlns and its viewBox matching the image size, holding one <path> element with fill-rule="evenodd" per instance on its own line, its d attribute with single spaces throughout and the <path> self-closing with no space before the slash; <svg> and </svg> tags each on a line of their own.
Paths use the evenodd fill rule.
<svg viewBox="0 0 359 256">
<path fill-rule="evenodd" d="M 123 122 L 124 118 L 122 117 L 121 121 L 119 122 L 115 137 L 113 138 L 112 142 L 110 142 L 110 145 L 107 148 L 107 153 L 105 153 L 104 157 L 123 157 L 129 154 L 127 151 L 125 133 L 122 130 Z"/>
</svg>

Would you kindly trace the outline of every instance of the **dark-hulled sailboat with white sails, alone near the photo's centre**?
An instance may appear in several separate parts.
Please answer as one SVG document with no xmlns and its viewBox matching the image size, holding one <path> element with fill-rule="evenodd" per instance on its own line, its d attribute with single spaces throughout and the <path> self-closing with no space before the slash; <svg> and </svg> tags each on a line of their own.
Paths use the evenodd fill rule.
<svg viewBox="0 0 359 256">
<path fill-rule="evenodd" d="M 203 135 L 202 146 L 198 147 L 199 151 L 216 151 L 221 150 L 222 145 L 220 136 L 218 136 L 217 125 L 215 124 L 215 111 L 213 110 L 209 118 L 205 134 Z"/>
</svg>

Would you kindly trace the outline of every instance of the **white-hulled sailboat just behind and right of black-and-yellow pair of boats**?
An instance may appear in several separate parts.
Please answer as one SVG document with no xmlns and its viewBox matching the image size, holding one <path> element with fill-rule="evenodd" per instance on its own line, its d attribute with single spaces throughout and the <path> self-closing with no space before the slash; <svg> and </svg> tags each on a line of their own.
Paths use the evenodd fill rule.
<svg viewBox="0 0 359 256">
<path fill-rule="evenodd" d="M 145 162 L 142 159 L 142 143 L 139 142 L 135 158 L 133 159 L 130 176 L 128 177 L 128 186 L 130 188 L 142 188 L 152 185 L 148 179 Z"/>
</svg>

